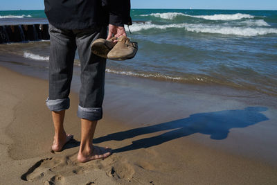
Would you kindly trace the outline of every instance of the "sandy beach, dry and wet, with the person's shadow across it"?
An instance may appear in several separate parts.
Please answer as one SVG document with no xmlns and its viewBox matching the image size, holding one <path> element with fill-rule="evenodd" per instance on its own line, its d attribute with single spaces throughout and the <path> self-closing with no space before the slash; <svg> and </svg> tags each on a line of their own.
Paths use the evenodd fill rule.
<svg viewBox="0 0 277 185">
<path fill-rule="evenodd" d="M 65 119 L 75 140 L 52 153 L 47 80 L 1 59 L 0 184 L 277 184 L 275 97 L 107 74 L 93 142 L 114 153 L 80 164 L 78 78 Z"/>
</svg>

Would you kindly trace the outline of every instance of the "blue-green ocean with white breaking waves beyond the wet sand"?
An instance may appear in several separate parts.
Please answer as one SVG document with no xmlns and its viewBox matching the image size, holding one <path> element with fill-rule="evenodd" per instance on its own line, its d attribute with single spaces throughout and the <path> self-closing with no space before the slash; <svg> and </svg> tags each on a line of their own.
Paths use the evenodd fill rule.
<svg viewBox="0 0 277 185">
<path fill-rule="evenodd" d="M 139 51 L 132 60 L 109 60 L 107 73 L 277 96 L 276 10 L 133 9 L 131 16 L 127 35 Z M 43 10 L 0 11 L 0 25 L 37 22 L 47 22 Z M 46 63 L 49 44 L 0 44 L 0 53 Z"/>
</svg>

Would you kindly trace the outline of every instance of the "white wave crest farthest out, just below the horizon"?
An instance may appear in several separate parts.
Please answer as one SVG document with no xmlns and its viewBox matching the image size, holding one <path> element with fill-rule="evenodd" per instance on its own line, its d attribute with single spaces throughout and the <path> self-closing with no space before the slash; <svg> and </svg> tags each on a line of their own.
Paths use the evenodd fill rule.
<svg viewBox="0 0 277 185">
<path fill-rule="evenodd" d="M 249 14 L 242 14 L 242 13 L 236 13 L 236 14 L 215 14 L 215 15 L 187 15 L 181 12 L 166 12 L 166 13 L 151 13 L 149 15 L 141 15 L 141 16 L 153 16 L 153 17 L 159 17 L 161 19 L 175 19 L 177 16 L 185 16 L 185 17 L 195 17 L 200 19 L 206 19 L 206 20 L 222 20 L 222 21 L 229 21 L 229 20 L 239 20 L 239 19 L 253 19 L 253 15 Z"/>
</svg>

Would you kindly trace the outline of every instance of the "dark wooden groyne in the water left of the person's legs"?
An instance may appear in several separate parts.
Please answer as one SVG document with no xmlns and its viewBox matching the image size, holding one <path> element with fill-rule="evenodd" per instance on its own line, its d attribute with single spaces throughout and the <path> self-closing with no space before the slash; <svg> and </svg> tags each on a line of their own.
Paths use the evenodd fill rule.
<svg viewBox="0 0 277 185">
<path fill-rule="evenodd" d="M 0 44 L 48 40 L 48 24 L 24 24 L 0 26 Z"/>
</svg>

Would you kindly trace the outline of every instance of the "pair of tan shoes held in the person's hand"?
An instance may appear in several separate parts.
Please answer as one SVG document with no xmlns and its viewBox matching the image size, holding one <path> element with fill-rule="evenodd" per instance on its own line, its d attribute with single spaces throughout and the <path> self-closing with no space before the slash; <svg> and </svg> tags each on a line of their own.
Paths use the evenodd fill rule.
<svg viewBox="0 0 277 185">
<path fill-rule="evenodd" d="M 117 42 L 114 42 L 117 40 Z M 134 58 L 138 51 L 138 43 L 130 42 L 128 37 L 121 36 L 111 39 L 96 39 L 91 44 L 91 52 L 109 60 L 127 60 Z"/>
</svg>

